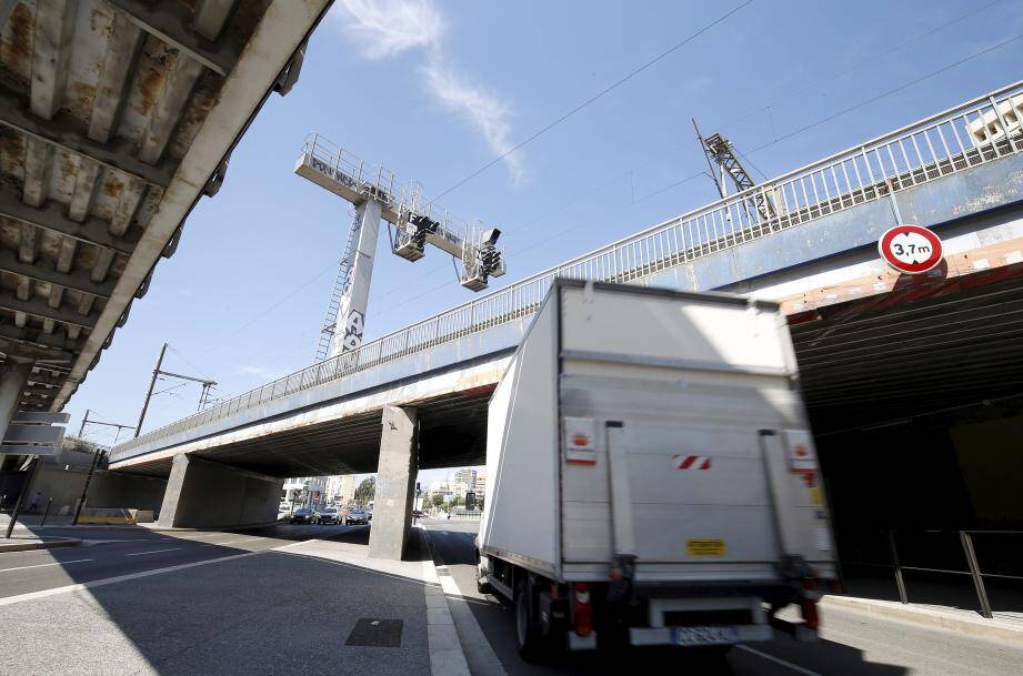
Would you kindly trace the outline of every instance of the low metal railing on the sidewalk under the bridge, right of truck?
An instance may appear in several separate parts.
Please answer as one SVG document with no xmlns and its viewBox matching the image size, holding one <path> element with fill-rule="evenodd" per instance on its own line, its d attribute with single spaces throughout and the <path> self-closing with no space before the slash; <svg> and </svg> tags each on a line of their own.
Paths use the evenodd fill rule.
<svg viewBox="0 0 1023 676">
<path fill-rule="evenodd" d="M 907 547 L 899 547 L 897 537 L 900 535 L 896 531 L 882 531 L 876 533 L 884 538 L 884 546 L 887 548 L 887 554 L 890 561 L 887 562 L 875 562 L 875 561 L 842 561 L 843 566 L 866 566 L 874 568 L 891 568 L 892 574 L 895 579 L 895 587 L 899 591 L 899 601 L 903 604 L 910 603 L 910 596 L 906 592 L 905 586 L 905 573 L 916 572 L 916 573 L 929 573 L 929 574 L 940 574 L 940 575 L 959 575 L 959 576 L 969 576 L 973 582 L 973 588 L 976 592 L 977 605 L 980 614 L 984 617 L 991 619 L 991 602 L 987 598 L 987 586 L 984 583 L 985 578 L 990 579 L 1003 579 L 1003 581 L 1015 581 L 1023 582 L 1023 575 L 1011 575 L 1006 573 L 992 573 L 984 572 L 981 569 L 981 564 L 976 555 L 975 542 L 977 538 L 983 538 L 984 536 L 1021 536 L 1023 531 L 924 531 L 919 533 L 903 533 L 905 537 L 907 535 L 914 535 L 917 537 L 936 537 L 936 536 L 952 536 L 959 541 L 959 552 L 963 556 L 963 562 L 965 563 L 965 569 L 956 568 L 936 568 L 933 566 L 916 566 L 916 565 L 906 565 L 900 553 L 905 554 Z M 903 543 L 904 545 L 905 543 Z M 930 545 L 930 546 L 929 546 Z M 950 556 L 949 552 L 950 543 L 927 543 L 924 545 L 917 544 L 915 548 L 923 548 L 924 551 L 930 549 L 931 556 L 935 556 L 935 552 L 940 552 L 942 558 L 947 559 Z M 1015 547 L 1019 551 L 1019 546 Z M 919 555 L 919 554 L 917 554 Z"/>
</svg>

